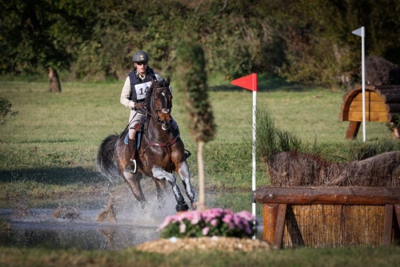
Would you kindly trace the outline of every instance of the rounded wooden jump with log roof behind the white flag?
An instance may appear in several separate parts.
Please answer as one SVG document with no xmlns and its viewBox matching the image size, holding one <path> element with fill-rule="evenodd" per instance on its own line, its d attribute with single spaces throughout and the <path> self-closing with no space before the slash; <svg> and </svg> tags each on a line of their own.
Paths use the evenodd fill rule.
<svg viewBox="0 0 400 267">
<path fill-rule="evenodd" d="M 394 125 L 393 135 L 398 136 L 400 126 L 400 85 L 365 86 L 365 120 L 389 122 Z M 349 121 L 346 139 L 357 135 L 362 121 L 362 88 L 357 85 L 343 96 L 340 120 Z"/>
</svg>

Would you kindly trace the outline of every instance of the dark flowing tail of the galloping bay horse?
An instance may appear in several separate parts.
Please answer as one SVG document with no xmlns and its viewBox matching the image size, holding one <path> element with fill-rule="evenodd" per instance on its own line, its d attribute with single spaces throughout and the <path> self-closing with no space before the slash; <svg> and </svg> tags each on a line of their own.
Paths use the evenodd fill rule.
<svg viewBox="0 0 400 267">
<path fill-rule="evenodd" d="M 117 139 L 117 135 L 108 135 L 102 140 L 97 151 L 97 169 L 110 182 L 116 182 L 121 177 L 115 162 L 115 145 Z"/>
</svg>

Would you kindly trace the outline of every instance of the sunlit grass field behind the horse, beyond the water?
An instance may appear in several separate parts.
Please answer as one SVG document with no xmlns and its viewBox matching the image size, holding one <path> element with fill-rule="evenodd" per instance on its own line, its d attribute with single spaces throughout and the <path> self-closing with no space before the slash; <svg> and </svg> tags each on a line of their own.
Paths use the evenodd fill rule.
<svg viewBox="0 0 400 267">
<path fill-rule="evenodd" d="M 100 141 L 127 123 L 128 109 L 119 103 L 122 83 L 63 82 L 61 93 L 51 93 L 44 81 L 0 81 L 0 95 L 18 111 L 0 128 L 0 190 L 7 191 L 0 198 L 16 194 L 15 183 L 30 196 L 45 196 L 46 190 L 85 193 L 93 184 L 106 184 L 94 159 Z M 331 147 L 346 142 L 348 122 L 338 119 L 344 92 L 301 87 L 276 77 L 262 78 L 259 84 L 258 107 L 270 110 L 276 127 L 303 142 L 316 138 Z M 214 78 L 210 86 L 217 130 L 204 147 L 206 186 L 249 189 L 252 94 L 221 78 Z M 188 162 L 196 185 L 196 145 L 179 88 L 173 88 L 173 95 L 172 115 L 192 151 Z M 366 129 L 368 140 L 390 136 L 385 123 L 370 122 Z M 267 184 L 264 169 L 259 162 L 257 185 Z"/>
</svg>

